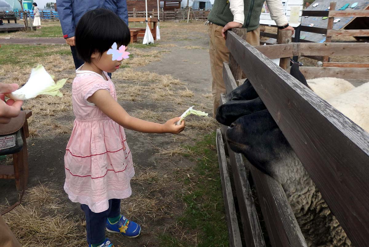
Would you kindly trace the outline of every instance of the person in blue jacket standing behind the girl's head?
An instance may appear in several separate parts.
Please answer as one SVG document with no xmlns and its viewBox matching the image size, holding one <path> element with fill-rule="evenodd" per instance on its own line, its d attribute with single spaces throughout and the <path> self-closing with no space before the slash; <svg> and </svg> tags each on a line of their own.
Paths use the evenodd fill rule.
<svg viewBox="0 0 369 247">
<path fill-rule="evenodd" d="M 106 8 L 119 16 L 128 25 L 128 11 L 126 0 L 56 0 L 63 37 L 72 51 L 76 69 L 83 65 L 83 60 L 78 58 L 75 47 L 75 28 L 79 19 L 89 10 Z M 111 73 L 108 73 L 111 77 Z"/>
</svg>

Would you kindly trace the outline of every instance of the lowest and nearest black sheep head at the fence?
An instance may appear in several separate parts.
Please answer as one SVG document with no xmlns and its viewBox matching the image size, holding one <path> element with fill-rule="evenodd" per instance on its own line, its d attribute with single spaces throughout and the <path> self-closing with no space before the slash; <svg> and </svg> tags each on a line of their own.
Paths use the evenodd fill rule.
<svg viewBox="0 0 369 247">
<path fill-rule="evenodd" d="M 239 117 L 226 132 L 230 148 L 240 152 L 258 169 L 271 174 L 270 163 L 291 150 L 268 110 Z"/>
</svg>

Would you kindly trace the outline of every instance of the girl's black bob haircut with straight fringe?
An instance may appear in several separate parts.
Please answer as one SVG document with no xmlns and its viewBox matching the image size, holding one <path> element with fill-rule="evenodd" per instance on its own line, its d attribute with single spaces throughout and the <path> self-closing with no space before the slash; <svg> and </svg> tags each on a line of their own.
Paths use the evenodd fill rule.
<svg viewBox="0 0 369 247">
<path fill-rule="evenodd" d="M 91 55 L 97 51 L 103 54 L 114 42 L 118 48 L 131 41 L 130 30 L 113 11 L 105 8 L 87 11 L 79 20 L 76 31 L 76 49 L 83 61 L 91 62 Z"/>
</svg>

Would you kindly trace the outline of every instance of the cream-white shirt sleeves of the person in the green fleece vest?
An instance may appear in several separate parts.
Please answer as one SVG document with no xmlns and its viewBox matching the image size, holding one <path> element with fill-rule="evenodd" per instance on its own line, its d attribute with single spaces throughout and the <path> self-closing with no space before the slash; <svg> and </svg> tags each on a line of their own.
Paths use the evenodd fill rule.
<svg viewBox="0 0 369 247">
<path fill-rule="evenodd" d="M 229 2 L 233 21 L 243 25 L 245 22 L 244 0 L 229 0 Z M 282 27 L 288 23 L 281 0 L 266 0 L 266 5 L 269 8 L 270 18 L 275 21 L 277 26 Z"/>
</svg>

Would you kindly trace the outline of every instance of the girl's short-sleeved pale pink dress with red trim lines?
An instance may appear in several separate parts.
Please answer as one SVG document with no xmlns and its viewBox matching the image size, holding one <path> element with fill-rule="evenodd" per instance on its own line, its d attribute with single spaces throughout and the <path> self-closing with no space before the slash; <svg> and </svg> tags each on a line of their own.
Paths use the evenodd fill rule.
<svg viewBox="0 0 369 247">
<path fill-rule="evenodd" d="M 99 89 L 108 90 L 117 100 L 113 82 L 80 69 L 72 86 L 76 120 L 64 157 L 64 190 L 72 202 L 99 213 L 108 209 L 109 199 L 131 195 L 130 180 L 135 172 L 124 128 L 87 101 Z M 109 78 L 106 72 L 104 75 Z"/>
</svg>

